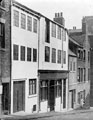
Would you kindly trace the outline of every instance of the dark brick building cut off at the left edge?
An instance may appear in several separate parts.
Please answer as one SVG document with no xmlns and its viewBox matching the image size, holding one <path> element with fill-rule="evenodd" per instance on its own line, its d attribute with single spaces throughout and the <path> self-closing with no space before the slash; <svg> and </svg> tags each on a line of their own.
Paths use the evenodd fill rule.
<svg viewBox="0 0 93 120">
<path fill-rule="evenodd" d="M 0 114 L 10 111 L 10 31 L 5 16 L 9 7 L 0 1 Z M 7 33 L 5 35 L 5 32 Z M 5 37 L 6 36 L 6 37 Z"/>
</svg>

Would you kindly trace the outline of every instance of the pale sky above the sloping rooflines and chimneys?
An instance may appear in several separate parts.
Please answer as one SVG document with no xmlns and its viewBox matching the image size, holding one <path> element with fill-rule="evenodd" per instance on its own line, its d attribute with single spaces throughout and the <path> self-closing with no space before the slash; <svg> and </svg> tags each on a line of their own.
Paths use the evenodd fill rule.
<svg viewBox="0 0 93 120">
<path fill-rule="evenodd" d="M 81 28 L 84 16 L 93 16 L 93 0 L 16 0 L 53 20 L 55 13 L 63 12 L 65 27 Z"/>
</svg>

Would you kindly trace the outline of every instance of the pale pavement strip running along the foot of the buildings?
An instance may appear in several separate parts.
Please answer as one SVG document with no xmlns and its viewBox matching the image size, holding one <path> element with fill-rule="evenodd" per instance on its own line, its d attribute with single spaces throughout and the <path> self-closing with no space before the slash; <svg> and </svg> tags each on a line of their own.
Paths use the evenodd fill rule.
<svg viewBox="0 0 93 120">
<path fill-rule="evenodd" d="M 11 115 L 0 115 L 0 120 L 15 120 L 15 119 L 38 119 L 38 118 L 45 118 L 45 117 L 53 117 L 58 115 L 72 115 L 72 114 L 82 114 L 93 112 L 93 108 L 90 109 L 79 109 L 79 110 L 70 110 L 67 112 L 47 112 L 47 113 L 33 113 L 27 114 L 25 112 L 18 112 Z"/>
</svg>

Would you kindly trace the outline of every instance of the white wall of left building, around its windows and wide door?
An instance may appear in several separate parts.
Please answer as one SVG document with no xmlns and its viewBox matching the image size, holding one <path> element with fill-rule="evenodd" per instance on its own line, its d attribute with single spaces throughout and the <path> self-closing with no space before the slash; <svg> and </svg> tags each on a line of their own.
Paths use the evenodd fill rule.
<svg viewBox="0 0 93 120">
<path fill-rule="evenodd" d="M 19 27 L 13 25 L 13 10 L 19 11 Z M 26 29 L 21 29 L 21 13 L 26 15 Z M 27 61 L 27 47 L 37 49 L 37 58 L 38 58 L 38 33 L 33 33 L 32 31 L 27 31 L 27 15 L 32 17 L 32 31 L 33 31 L 33 18 L 36 17 L 12 6 L 12 81 L 26 79 L 25 82 L 25 112 L 32 113 L 33 105 L 37 104 L 37 94 L 29 96 L 29 79 L 37 79 L 37 69 L 38 69 L 38 59 L 37 62 L 28 62 Z M 38 19 L 37 19 L 38 20 Z M 13 44 L 19 45 L 19 60 L 13 60 Z M 25 46 L 26 50 L 26 60 L 20 60 L 20 46 Z M 33 60 L 33 54 L 31 56 Z M 13 91 L 13 83 L 11 87 Z M 11 113 L 13 112 L 13 92 L 11 94 Z"/>
</svg>

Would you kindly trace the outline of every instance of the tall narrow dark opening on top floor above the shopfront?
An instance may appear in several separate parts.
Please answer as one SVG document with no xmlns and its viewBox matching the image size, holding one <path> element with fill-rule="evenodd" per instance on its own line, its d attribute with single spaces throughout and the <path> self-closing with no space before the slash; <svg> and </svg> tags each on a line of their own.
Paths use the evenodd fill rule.
<svg viewBox="0 0 93 120">
<path fill-rule="evenodd" d="M 45 21 L 45 42 L 50 43 L 50 22 L 48 19 Z"/>
</svg>

